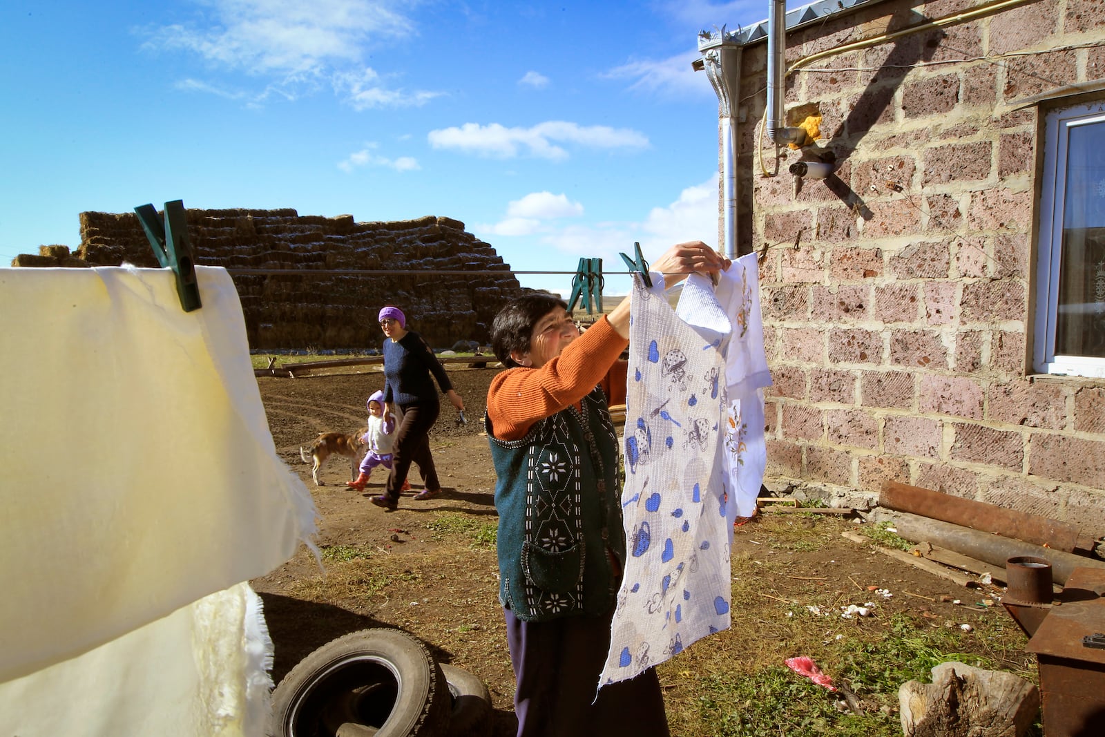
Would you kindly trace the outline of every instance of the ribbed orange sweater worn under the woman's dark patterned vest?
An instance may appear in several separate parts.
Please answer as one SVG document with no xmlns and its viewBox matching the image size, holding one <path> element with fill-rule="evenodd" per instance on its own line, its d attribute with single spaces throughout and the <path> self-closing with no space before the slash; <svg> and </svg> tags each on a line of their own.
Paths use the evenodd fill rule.
<svg viewBox="0 0 1105 737">
<path fill-rule="evenodd" d="M 587 328 L 545 366 L 513 368 L 491 382 L 487 417 L 499 440 L 518 440 L 538 420 L 578 404 L 601 385 L 607 401 L 625 401 L 627 364 L 619 361 L 629 340 L 618 335 L 606 316 Z"/>
</svg>

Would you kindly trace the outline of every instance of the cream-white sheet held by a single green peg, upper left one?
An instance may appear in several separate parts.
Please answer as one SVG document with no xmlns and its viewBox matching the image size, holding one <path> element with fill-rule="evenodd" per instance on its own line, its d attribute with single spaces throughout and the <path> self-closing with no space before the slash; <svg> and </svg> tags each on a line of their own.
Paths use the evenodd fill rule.
<svg viewBox="0 0 1105 737">
<path fill-rule="evenodd" d="M 0 269 L 0 682 L 262 576 L 315 531 L 224 269 Z"/>
</svg>

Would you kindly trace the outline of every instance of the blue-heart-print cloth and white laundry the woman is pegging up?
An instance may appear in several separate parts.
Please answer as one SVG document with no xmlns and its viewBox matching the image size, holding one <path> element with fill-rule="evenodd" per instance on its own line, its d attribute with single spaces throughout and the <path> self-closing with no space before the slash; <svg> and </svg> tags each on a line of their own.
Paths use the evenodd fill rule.
<svg viewBox="0 0 1105 737">
<path fill-rule="evenodd" d="M 755 509 L 766 466 L 761 388 L 770 373 L 758 288 L 755 256 L 735 261 L 716 287 L 690 276 L 675 310 L 662 286 L 650 292 L 634 277 L 629 556 L 600 685 L 729 627 L 733 520 Z"/>
</svg>

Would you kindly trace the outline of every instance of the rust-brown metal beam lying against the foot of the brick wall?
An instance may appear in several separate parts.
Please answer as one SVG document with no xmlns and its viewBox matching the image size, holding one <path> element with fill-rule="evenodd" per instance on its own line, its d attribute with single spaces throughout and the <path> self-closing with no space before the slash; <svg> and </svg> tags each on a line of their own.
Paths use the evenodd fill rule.
<svg viewBox="0 0 1105 737">
<path fill-rule="evenodd" d="M 1071 552 L 1075 549 L 1093 550 L 1094 539 L 1083 535 L 1076 525 L 1070 525 L 1040 515 L 1007 509 L 993 504 L 974 502 L 929 488 L 909 486 L 896 481 L 883 484 L 878 504 L 899 512 L 911 512 L 924 517 L 940 519 L 1004 537 L 1046 545 L 1055 550 Z"/>
</svg>

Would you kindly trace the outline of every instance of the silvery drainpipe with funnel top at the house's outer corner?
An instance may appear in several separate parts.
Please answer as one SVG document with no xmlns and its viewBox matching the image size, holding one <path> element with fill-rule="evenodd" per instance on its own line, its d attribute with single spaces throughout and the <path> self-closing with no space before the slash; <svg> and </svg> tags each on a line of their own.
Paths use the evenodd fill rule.
<svg viewBox="0 0 1105 737">
<path fill-rule="evenodd" d="M 718 136 L 722 141 L 722 249 L 729 259 L 737 257 L 737 92 L 740 88 L 741 48 L 728 43 L 723 31 L 722 43 L 703 54 L 703 66 L 717 93 Z"/>
</svg>

